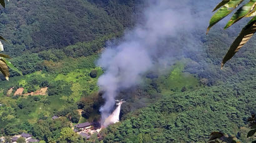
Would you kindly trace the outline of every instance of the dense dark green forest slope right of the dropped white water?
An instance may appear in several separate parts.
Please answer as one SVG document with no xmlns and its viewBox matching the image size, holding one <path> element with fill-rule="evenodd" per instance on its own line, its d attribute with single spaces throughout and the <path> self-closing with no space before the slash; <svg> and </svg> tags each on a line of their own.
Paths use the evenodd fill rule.
<svg viewBox="0 0 256 143">
<path fill-rule="evenodd" d="M 244 126 L 242 119 L 255 109 L 252 86 L 244 82 L 170 93 L 148 108 L 125 115 L 121 124 L 108 127 L 104 142 L 134 141 L 134 136 L 141 139 L 145 133 L 153 142 L 204 141 L 212 131 L 237 134 L 237 126 Z M 249 92 L 232 98 L 237 94 L 234 87 Z M 247 104 L 251 108 L 245 109 Z"/>
</svg>

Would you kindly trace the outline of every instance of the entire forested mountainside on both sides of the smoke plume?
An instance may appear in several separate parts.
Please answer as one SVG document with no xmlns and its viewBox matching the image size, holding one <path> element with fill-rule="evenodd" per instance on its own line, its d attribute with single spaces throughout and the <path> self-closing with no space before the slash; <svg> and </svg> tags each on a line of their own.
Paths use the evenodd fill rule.
<svg viewBox="0 0 256 143">
<path fill-rule="evenodd" d="M 24 76 L 11 71 L 9 81 L 0 81 L 0 137 L 26 132 L 45 142 L 97 142 L 97 136 L 87 141 L 69 129 L 99 120 L 104 100 L 97 78 L 104 69 L 96 60 L 108 40 L 118 42 L 134 27 L 144 6 L 137 0 L 6 2 L 0 32 L 11 44 L 4 52 Z M 255 37 L 220 70 L 239 27 L 217 25 L 209 35 L 199 27 L 171 37 L 166 49 L 182 43 L 200 48 L 187 48 L 164 72 L 149 71 L 141 85 L 121 91 L 118 98 L 127 101 L 121 122 L 103 129 L 101 141 L 205 142 L 210 132 L 222 131 L 249 142 Z M 200 40 L 194 44 L 191 35 Z M 42 89 L 46 93 L 38 93 Z"/>
</svg>

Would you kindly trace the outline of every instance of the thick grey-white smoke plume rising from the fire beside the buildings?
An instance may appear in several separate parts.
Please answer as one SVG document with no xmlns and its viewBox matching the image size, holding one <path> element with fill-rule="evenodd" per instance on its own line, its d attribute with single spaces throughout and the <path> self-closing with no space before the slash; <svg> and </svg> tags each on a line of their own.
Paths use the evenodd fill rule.
<svg viewBox="0 0 256 143">
<path fill-rule="evenodd" d="M 100 109 L 102 122 L 111 114 L 119 90 L 139 84 L 141 75 L 155 65 L 172 64 L 174 58 L 184 55 L 185 48 L 199 48 L 200 44 L 195 42 L 191 31 L 195 27 L 201 27 L 205 31 L 210 17 L 204 17 L 210 11 L 200 13 L 199 9 L 192 6 L 200 2 L 147 1 L 142 17 L 144 20 L 133 30 L 126 32 L 120 44 L 104 50 L 97 62 L 105 70 L 98 81 L 101 90 L 105 91 L 103 98 L 106 99 Z M 202 4 L 203 9 L 207 2 L 210 1 Z M 204 22 L 204 25 L 200 22 Z"/>
</svg>

